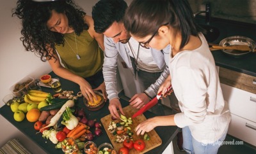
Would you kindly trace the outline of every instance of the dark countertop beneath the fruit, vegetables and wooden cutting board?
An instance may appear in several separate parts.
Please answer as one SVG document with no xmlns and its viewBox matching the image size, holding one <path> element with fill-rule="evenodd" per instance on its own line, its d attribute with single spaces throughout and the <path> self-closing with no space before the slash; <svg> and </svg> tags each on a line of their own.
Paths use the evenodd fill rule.
<svg viewBox="0 0 256 154">
<path fill-rule="evenodd" d="M 52 78 L 56 78 L 56 74 L 53 72 L 50 73 Z M 58 77 L 60 78 L 60 77 Z M 79 85 L 76 83 L 73 83 L 72 81 L 65 80 L 63 78 L 60 78 L 61 81 L 61 87 L 62 90 L 73 90 L 74 94 L 77 94 L 79 92 Z M 53 90 L 51 88 L 45 88 L 42 87 L 42 90 L 44 92 L 50 92 L 51 94 L 54 94 Z M 120 99 L 122 102 L 122 106 L 128 106 L 129 102 L 125 101 L 124 99 Z M 83 104 L 83 98 L 79 97 L 78 102 L 76 103 L 76 106 L 79 106 L 80 108 L 84 108 Z M 100 122 L 100 118 L 109 115 L 109 110 L 108 110 L 108 102 L 104 105 L 102 109 L 99 111 L 88 111 L 88 109 L 84 108 L 84 111 L 86 113 L 86 118 L 88 119 L 96 119 L 97 122 Z M 13 119 L 13 113 L 10 109 L 10 106 L 4 105 L 3 107 L 0 108 L 0 114 L 3 115 L 6 120 L 8 120 L 12 125 L 17 127 L 23 134 L 28 136 L 32 141 L 34 141 L 42 150 L 44 150 L 46 153 L 63 153 L 61 149 L 56 149 L 54 148 L 55 144 L 51 143 L 50 140 L 44 139 L 42 137 L 41 133 L 36 134 L 36 130 L 34 129 L 33 125 L 34 123 L 28 122 L 28 120 L 23 120 L 22 122 L 16 122 Z M 154 113 L 151 113 L 150 111 L 146 111 L 143 113 L 146 118 L 151 118 L 154 115 Z M 111 143 L 109 140 L 109 137 L 104 129 L 103 134 L 100 137 L 95 137 L 93 139 L 93 142 L 99 146 L 102 143 Z M 154 148 L 153 150 L 148 151 L 147 153 L 163 153 L 163 151 L 166 149 L 166 147 L 171 143 L 173 138 L 177 135 L 179 132 L 179 128 L 177 126 L 168 126 L 168 127 L 156 127 L 155 128 L 157 134 L 159 137 L 162 139 L 162 144 L 160 146 L 157 146 L 157 148 Z M 168 132 L 168 133 L 166 133 Z M 84 152 L 83 152 L 84 153 Z"/>
</svg>

